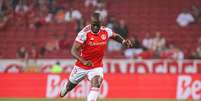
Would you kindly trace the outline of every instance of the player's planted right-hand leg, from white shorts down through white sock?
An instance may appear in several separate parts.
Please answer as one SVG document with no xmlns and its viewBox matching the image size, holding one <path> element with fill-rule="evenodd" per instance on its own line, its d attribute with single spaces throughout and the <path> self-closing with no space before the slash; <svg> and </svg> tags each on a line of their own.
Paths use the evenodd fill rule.
<svg viewBox="0 0 201 101">
<path fill-rule="evenodd" d="M 91 82 L 91 89 L 87 96 L 87 101 L 96 101 L 103 81 L 103 68 L 96 68 L 90 71 L 88 78 Z"/>
</svg>

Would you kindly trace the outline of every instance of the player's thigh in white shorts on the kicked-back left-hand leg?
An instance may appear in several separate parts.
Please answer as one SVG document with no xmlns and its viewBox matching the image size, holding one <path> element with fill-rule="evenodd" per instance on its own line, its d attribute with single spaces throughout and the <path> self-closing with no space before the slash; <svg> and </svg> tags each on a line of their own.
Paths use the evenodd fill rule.
<svg viewBox="0 0 201 101">
<path fill-rule="evenodd" d="M 74 83 L 74 84 L 78 84 L 80 81 L 82 81 L 85 77 L 87 76 L 87 71 L 74 66 L 73 70 L 71 71 L 70 77 L 69 77 L 69 81 Z"/>
</svg>

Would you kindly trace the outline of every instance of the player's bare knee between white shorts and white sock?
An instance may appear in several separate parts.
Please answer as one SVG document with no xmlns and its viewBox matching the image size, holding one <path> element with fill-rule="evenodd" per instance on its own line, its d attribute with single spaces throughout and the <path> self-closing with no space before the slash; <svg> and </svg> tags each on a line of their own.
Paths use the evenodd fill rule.
<svg viewBox="0 0 201 101">
<path fill-rule="evenodd" d="M 102 81 L 103 81 L 102 77 L 95 76 L 91 81 L 91 85 L 92 87 L 100 88 Z"/>
</svg>

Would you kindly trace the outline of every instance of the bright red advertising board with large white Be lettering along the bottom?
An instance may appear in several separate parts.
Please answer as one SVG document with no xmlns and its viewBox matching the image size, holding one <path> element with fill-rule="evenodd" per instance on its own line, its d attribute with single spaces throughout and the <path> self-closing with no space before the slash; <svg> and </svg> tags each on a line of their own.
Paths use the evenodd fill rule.
<svg viewBox="0 0 201 101">
<path fill-rule="evenodd" d="M 67 74 L 0 74 L 0 97 L 57 98 Z M 83 80 L 66 98 L 86 98 Z M 201 99 L 201 75 L 105 74 L 101 98 Z"/>
</svg>

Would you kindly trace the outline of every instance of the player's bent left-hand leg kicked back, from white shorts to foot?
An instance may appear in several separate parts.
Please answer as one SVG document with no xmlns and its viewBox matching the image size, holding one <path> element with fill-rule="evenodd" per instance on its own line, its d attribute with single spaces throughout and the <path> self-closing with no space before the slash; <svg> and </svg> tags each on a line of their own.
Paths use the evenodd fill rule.
<svg viewBox="0 0 201 101">
<path fill-rule="evenodd" d="M 69 91 L 77 86 L 77 84 L 84 79 L 87 71 L 79 67 L 74 67 L 68 82 L 65 82 L 60 91 L 60 97 L 64 97 Z"/>
</svg>

